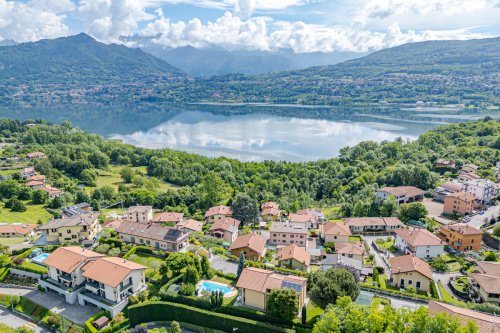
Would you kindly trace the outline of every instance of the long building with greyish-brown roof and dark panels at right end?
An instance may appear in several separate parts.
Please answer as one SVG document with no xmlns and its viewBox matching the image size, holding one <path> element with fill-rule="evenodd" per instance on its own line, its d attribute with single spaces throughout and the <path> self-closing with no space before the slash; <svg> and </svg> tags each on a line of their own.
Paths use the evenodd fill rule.
<svg viewBox="0 0 500 333">
<path fill-rule="evenodd" d="M 127 243 L 151 246 L 166 252 L 178 252 L 189 244 L 190 232 L 157 223 L 123 221 L 116 229 L 118 236 Z"/>
</svg>

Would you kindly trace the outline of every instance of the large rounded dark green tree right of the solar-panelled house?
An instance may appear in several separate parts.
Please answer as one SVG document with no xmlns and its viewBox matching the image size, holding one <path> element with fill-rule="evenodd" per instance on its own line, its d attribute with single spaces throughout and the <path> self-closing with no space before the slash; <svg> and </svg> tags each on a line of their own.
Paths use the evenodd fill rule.
<svg viewBox="0 0 500 333">
<path fill-rule="evenodd" d="M 328 304 L 335 304 L 338 297 L 349 296 L 356 299 L 359 295 L 354 276 L 343 268 L 330 268 L 311 275 L 313 277 L 309 295 L 311 300 L 323 309 Z"/>
</svg>

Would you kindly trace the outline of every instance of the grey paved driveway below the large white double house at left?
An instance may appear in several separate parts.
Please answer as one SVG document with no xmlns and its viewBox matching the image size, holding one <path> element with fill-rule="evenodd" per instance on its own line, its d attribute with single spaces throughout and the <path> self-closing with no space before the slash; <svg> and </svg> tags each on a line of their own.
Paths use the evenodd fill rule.
<svg viewBox="0 0 500 333">
<path fill-rule="evenodd" d="M 93 306 L 68 304 L 62 296 L 50 291 L 41 293 L 38 290 L 31 289 L 0 288 L 0 294 L 25 296 L 32 302 L 78 325 L 84 325 L 87 319 L 99 312 L 99 309 Z"/>
</svg>

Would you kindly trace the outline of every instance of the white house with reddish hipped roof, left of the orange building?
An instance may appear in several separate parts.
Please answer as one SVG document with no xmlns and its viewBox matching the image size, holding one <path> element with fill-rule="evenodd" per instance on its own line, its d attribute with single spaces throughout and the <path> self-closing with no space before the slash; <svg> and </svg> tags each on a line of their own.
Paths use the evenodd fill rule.
<svg viewBox="0 0 500 333">
<path fill-rule="evenodd" d="M 425 229 L 398 229 L 394 246 L 405 254 L 431 259 L 445 253 L 446 245 L 439 237 Z"/>
</svg>

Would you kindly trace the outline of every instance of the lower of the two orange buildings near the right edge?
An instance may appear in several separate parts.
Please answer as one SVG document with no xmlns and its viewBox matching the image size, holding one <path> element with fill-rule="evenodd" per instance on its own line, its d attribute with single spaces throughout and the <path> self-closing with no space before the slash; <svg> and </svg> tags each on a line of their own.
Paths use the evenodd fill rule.
<svg viewBox="0 0 500 333">
<path fill-rule="evenodd" d="M 483 232 L 466 223 L 456 223 L 439 228 L 437 236 L 457 251 L 479 251 Z"/>
</svg>

